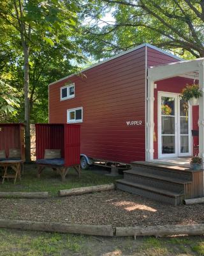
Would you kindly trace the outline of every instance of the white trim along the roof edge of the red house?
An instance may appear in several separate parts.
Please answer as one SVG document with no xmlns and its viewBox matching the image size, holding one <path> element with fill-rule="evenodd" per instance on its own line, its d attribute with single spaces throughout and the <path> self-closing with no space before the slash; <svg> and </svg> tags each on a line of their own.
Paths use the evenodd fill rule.
<svg viewBox="0 0 204 256">
<path fill-rule="evenodd" d="M 91 66 L 89 66 L 89 67 L 87 67 L 87 68 L 84 68 L 84 69 L 81 70 L 80 72 L 84 72 L 84 71 L 89 70 L 89 69 L 91 69 L 91 68 L 97 67 L 97 66 L 99 66 L 99 65 L 101 65 L 101 64 L 103 64 L 103 63 L 105 63 L 105 62 L 108 62 L 108 61 L 110 61 L 110 60 L 113 60 L 113 59 L 115 59 L 115 58 L 118 58 L 118 57 L 120 57 L 120 56 L 122 56 L 122 55 L 128 54 L 129 52 L 136 51 L 136 50 L 138 50 L 138 49 L 140 49 L 140 48 L 142 48 L 142 47 L 150 47 L 150 48 L 152 48 L 152 49 L 154 49 L 154 50 L 156 50 L 156 51 L 162 52 L 162 53 L 164 53 L 164 54 L 166 54 L 166 55 L 168 55 L 168 56 L 170 56 L 170 57 L 172 57 L 172 58 L 175 58 L 175 59 L 177 59 L 177 60 L 180 60 L 180 61 L 183 60 L 182 58 L 179 58 L 178 56 L 175 56 L 175 55 L 171 54 L 170 52 L 164 51 L 164 50 L 162 50 L 162 49 L 160 49 L 160 48 L 158 48 L 158 47 L 156 47 L 156 46 L 154 46 L 154 45 L 144 43 L 144 44 L 140 44 L 140 45 L 138 45 L 138 46 L 136 46 L 136 47 L 133 47 L 133 48 L 129 49 L 128 51 L 122 51 L 122 52 L 120 52 L 119 54 L 116 54 L 115 56 L 112 56 L 111 58 L 108 58 L 107 60 L 104 60 L 104 61 L 100 61 L 100 62 L 98 62 L 98 63 L 95 63 L 95 64 L 93 64 L 93 65 L 91 65 Z M 55 84 L 55 83 L 58 83 L 58 82 L 60 82 L 60 81 L 63 81 L 63 80 L 65 80 L 65 79 L 68 79 L 69 77 L 75 76 L 75 75 L 77 75 L 77 74 L 78 74 L 78 73 L 71 74 L 71 75 L 66 76 L 66 77 L 62 77 L 61 79 L 59 79 L 59 80 L 57 80 L 57 81 L 54 81 L 54 82 L 48 84 L 48 86 L 50 86 L 50 85 L 52 85 L 52 84 Z"/>
</svg>

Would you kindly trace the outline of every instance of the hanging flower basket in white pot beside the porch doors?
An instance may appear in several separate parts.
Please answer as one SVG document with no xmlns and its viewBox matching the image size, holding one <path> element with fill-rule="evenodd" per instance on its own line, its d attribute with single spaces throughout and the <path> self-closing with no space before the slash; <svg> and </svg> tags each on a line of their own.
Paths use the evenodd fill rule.
<svg viewBox="0 0 204 256">
<path fill-rule="evenodd" d="M 187 84 L 180 94 L 181 99 L 189 100 L 192 106 L 198 105 L 198 98 L 203 95 L 198 84 Z"/>
</svg>

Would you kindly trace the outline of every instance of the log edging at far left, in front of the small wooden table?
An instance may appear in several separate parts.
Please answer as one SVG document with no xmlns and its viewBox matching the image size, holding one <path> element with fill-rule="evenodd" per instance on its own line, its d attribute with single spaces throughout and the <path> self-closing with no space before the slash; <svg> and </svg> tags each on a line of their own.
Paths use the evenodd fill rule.
<svg viewBox="0 0 204 256">
<path fill-rule="evenodd" d="M 48 198 L 48 192 L 0 192 L 0 198 Z"/>
</svg>

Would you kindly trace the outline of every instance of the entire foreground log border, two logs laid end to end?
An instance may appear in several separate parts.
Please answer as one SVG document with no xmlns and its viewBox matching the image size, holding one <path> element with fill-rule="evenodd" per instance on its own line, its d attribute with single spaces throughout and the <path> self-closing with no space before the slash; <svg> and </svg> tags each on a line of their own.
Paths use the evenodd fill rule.
<svg viewBox="0 0 204 256">
<path fill-rule="evenodd" d="M 83 234 L 90 236 L 171 236 L 171 235 L 203 235 L 204 224 L 194 225 L 157 225 L 116 227 L 112 225 L 80 225 L 59 222 L 25 221 L 0 219 L 0 228 L 17 228 L 20 230 L 34 230 L 43 232 L 59 232 Z"/>
</svg>

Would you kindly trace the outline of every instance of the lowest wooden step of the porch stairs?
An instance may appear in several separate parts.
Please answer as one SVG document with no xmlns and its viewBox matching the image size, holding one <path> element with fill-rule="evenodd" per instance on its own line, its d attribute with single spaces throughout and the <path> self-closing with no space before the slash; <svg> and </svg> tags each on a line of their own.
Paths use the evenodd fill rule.
<svg viewBox="0 0 204 256">
<path fill-rule="evenodd" d="M 117 180 L 117 188 L 133 193 L 136 195 L 145 196 L 166 204 L 179 205 L 183 203 L 184 194 L 176 193 L 166 189 L 152 188 L 136 182 L 129 182 L 128 180 Z"/>
</svg>

